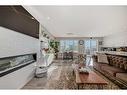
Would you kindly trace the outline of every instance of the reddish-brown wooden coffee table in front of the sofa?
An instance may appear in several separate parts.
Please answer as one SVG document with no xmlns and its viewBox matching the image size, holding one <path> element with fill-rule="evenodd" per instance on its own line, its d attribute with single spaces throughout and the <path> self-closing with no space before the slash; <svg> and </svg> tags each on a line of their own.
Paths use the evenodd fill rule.
<svg viewBox="0 0 127 95">
<path fill-rule="evenodd" d="M 107 81 L 92 70 L 89 70 L 89 74 L 80 73 L 78 64 L 73 64 L 73 69 L 78 89 L 83 88 L 85 85 L 97 85 L 97 89 L 103 89 L 103 86 L 108 84 Z"/>
</svg>

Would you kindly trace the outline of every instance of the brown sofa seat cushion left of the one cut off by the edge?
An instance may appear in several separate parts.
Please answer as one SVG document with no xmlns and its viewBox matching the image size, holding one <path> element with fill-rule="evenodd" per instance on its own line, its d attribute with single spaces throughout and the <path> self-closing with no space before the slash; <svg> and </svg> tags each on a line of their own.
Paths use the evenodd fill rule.
<svg viewBox="0 0 127 95">
<path fill-rule="evenodd" d="M 119 68 L 116 68 L 116 67 L 113 67 L 113 66 L 109 66 L 109 65 L 106 65 L 106 66 L 102 66 L 101 69 L 106 72 L 106 73 L 109 73 L 111 74 L 112 76 L 116 76 L 116 73 L 122 73 L 122 72 L 125 72 L 124 70 L 122 69 L 119 69 Z"/>
</svg>

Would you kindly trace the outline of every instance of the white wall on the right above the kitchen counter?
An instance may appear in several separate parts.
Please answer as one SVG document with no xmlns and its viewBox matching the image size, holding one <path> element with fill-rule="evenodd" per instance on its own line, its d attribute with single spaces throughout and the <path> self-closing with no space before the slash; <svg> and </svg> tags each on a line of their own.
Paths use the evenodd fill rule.
<svg viewBox="0 0 127 95">
<path fill-rule="evenodd" d="M 104 37 L 105 47 L 127 46 L 127 32 L 119 32 Z"/>
</svg>

